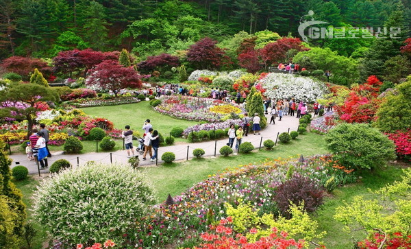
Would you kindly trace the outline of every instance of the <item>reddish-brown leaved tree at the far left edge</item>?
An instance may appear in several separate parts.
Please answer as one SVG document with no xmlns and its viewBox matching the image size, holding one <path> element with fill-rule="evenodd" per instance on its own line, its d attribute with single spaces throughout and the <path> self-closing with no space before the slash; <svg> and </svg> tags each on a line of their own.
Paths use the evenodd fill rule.
<svg viewBox="0 0 411 249">
<path fill-rule="evenodd" d="M 3 60 L 0 67 L 21 75 L 25 80 L 28 79 L 29 73 L 32 73 L 34 69 L 38 69 L 46 78 L 51 74 L 51 67 L 47 65 L 47 62 L 37 58 L 12 56 Z"/>
</svg>

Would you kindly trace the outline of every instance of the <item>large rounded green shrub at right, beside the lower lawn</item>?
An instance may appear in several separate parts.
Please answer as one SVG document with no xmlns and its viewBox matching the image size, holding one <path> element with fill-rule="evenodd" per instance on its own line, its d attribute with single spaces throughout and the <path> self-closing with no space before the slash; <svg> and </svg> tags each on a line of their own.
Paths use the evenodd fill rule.
<svg viewBox="0 0 411 249">
<path fill-rule="evenodd" d="M 364 123 L 341 123 L 324 137 L 327 149 L 341 165 L 371 169 L 395 159 L 395 145 Z"/>
</svg>

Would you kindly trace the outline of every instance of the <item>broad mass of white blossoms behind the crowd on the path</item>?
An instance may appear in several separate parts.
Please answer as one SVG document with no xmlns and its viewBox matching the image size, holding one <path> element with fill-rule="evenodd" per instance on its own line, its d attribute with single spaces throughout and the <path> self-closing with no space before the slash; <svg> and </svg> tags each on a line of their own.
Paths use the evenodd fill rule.
<svg viewBox="0 0 411 249">
<path fill-rule="evenodd" d="M 269 73 L 259 82 L 265 89 L 264 95 L 271 99 L 291 99 L 315 102 L 327 93 L 323 82 L 308 77 L 299 77 L 287 73 Z"/>
</svg>

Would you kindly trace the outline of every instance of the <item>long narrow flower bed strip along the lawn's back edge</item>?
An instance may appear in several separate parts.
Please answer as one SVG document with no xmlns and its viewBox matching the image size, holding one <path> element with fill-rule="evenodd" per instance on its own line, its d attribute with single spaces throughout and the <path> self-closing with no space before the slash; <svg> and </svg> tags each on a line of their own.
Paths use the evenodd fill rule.
<svg viewBox="0 0 411 249">
<path fill-rule="evenodd" d="M 65 102 L 71 106 L 79 107 L 92 107 L 92 106 L 116 106 L 121 104 L 137 103 L 139 100 L 132 96 L 105 96 L 105 97 L 93 97 L 90 99 L 75 99 L 73 101 Z"/>
</svg>

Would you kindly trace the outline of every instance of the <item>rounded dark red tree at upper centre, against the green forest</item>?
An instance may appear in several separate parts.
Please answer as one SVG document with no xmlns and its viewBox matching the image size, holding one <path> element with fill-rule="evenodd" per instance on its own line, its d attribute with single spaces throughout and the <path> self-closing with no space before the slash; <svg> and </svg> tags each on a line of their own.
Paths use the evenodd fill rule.
<svg viewBox="0 0 411 249">
<path fill-rule="evenodd" d="M 223 64 L 231 64 L 225 51 L 216 46 L 217 41 L 203 38 L 188 49 L 187 60 L 201 69 L 219 69 Z"/>
</svg>

